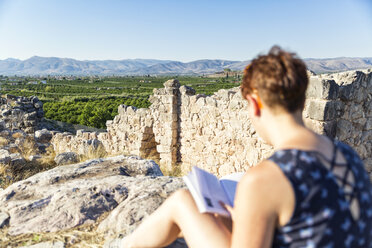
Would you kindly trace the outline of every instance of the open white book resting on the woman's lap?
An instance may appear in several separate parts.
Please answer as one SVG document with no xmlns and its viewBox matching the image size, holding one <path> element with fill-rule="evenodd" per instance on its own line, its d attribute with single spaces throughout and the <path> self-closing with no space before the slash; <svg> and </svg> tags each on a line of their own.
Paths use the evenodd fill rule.
<svg viewBox="0 0 372 248">
<path fill-rule="evenodd" d="M 201 213 L 216 213 L 229 217 L 229 212 L 220 202 L 234 206 L 236 186 L 244 172 L 234 173 L 218 179 L 215 175 L 193 167 L 183 177 Z"/>
</svg>

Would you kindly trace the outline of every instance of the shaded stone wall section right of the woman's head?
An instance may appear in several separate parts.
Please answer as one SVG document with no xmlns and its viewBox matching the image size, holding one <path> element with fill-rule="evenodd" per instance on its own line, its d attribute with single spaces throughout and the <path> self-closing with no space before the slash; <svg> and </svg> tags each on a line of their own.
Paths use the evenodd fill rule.
<svg viewBox="0 0 372 248">
<path fill-rule="evenodd" d="M 307 125 L 352 146 L 372 179 L 372 70 L 310 77 Z"/>
</svg>

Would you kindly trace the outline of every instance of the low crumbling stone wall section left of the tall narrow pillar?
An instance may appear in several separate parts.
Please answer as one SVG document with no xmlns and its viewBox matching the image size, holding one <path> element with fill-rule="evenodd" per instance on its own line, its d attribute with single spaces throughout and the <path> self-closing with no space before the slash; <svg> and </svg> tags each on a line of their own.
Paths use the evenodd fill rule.
<svg viewBox="0 0 372 248">
<path fill-rule="evenodd" d="M 52 139 L 56 154 L 75 152 L 94 156 L 104 147 L 109 155 L 138 155 L 157 159 L 153 117 L 149 109 L 120 105 L 114 120 L 107 121 L 107 132 L 78 130 L 76 135 L 57 133 Z M 97 154 L 98 155 L 98 154 Z M 101 154 L 102 155 L 102 154 Z"/>
</svg>

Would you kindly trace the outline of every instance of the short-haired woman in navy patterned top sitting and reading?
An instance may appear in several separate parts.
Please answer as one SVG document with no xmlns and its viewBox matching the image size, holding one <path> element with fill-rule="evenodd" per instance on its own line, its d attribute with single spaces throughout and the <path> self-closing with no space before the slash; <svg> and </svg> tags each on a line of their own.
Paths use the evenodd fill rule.
<svg viewBox="0 0 372 248">
<path fill-rule="evenodd" d="M 350 147 L 304 126 L 307 84 L 295 54 L 273 47 L 254 59 L 241 92 L 252 125 L 275 153 L 239 182 L 234 208 L 225 206 L 231 220 L 199 213 L 179 190 L 124 247 L 163 247 L 177 237 L 189 247 L 372 247 L 368 175 Z"/>
</svg>

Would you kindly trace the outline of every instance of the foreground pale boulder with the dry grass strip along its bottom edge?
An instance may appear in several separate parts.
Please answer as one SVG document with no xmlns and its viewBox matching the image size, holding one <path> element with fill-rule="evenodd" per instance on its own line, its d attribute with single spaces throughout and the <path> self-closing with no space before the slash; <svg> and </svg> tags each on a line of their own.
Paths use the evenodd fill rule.
<svg viewBox="0 0 372 248">
<path fill-rule="evenodd" d="M 181 178 L 139 157 L 58 166 L 0 191 L 1 247 L 117 247 L 115 238 L 181 187 Z"/>
</svg>

